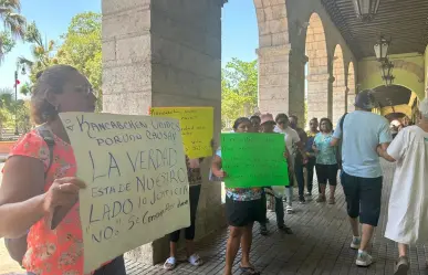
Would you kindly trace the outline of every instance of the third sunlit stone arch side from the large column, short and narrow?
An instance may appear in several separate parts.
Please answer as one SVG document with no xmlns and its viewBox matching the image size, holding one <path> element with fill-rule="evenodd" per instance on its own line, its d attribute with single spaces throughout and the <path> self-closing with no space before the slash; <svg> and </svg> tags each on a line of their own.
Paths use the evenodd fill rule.
<svg viewBox="0 0 428 275">
<path fill-rule="evenodd" d="M 336 45 L 333 55 L 333 123 L 336 123 L 346 113 L 346 80 L 343 51 Z"/>
</svg>

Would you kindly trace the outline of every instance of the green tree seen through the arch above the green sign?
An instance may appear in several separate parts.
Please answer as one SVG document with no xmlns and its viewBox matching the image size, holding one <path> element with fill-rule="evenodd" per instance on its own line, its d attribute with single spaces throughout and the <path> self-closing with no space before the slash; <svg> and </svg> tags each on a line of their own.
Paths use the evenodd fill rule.
<svg viewBox="0 0 428 275">
<path fill-rule="evenodd" d="M 221 123 L 230 128 L 234 119 L 250 116 L 258 106 L 257 61 L 232 59 L 221 73 Z"/>
</svg>

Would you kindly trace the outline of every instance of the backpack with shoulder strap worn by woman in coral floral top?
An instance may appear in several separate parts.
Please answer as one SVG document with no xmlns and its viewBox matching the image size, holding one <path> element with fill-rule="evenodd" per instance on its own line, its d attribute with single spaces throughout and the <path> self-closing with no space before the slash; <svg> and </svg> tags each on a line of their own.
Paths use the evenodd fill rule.
<svg viewBox="0 0 428 275">
<path fill-rule="evenodd" d="M 52 133 L 46 128 L 45 125 L 39 126 L 35 128 L 38 134 L 43 138 L 44 142 L 46 142 L 49 148 L 49 166 L 46 171 L 44 172 L 44 179 L 46 179 L 48 172 L 51 169 L 53 161 L 53 147 L 55 146 L 55 140 L 53 138 Z M 8 253 L 11 258 L 18 262 L 22 266 L 23 256 L 27 253 L 27 235 L 23 235 L 18 239 L 4 239 L 4 245 L 8 250 Z"/>
</svg>

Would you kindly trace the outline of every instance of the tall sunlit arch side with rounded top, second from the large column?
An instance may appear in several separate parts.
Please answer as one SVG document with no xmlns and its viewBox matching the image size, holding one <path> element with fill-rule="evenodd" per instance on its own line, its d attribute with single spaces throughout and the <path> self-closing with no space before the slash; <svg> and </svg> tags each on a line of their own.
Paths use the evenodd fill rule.
<svg viewBox="0 0 428 275">
<path fill-rule="evenodd" d="M 328 55 L 323 22 L 312 13 L 306 32 L 307 56 L 307 117 L 328 116 Z"/>
</svg>

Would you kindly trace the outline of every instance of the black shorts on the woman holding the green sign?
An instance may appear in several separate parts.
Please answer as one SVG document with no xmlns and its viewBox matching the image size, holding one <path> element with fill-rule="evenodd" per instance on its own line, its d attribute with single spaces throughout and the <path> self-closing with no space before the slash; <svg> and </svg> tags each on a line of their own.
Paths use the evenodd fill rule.
<svg viewBox="0 0 428 275">
<path fill-rule="evenodd" d="M 236 228 L 264 221 L 262 200 L 234 201 L 226 197 L 226 218 L 228 224 Z"/>
</svg>

